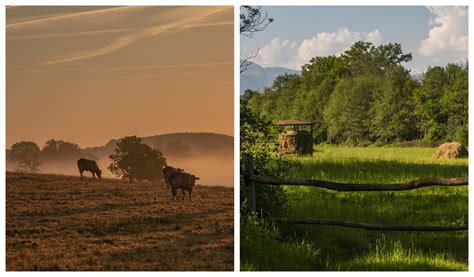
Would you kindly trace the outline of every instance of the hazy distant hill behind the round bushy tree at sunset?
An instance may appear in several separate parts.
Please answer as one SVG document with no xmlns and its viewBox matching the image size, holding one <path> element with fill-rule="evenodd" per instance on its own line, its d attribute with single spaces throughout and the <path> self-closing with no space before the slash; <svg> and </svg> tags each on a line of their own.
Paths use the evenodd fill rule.
<svg viewBox="0 0 474 277">
<path fill-rule="evenodd" d="M 171 133 L 143 137 L 143 142 L 157 148 L 166 157 L 186 158 L 194 155 L 227 155 L 234 149 L 234 138 L 214 133 Z M 112 154 L 117 139 L 104 146 L 85 148 L 84 151 L 98 157 Z"/>
</svg>

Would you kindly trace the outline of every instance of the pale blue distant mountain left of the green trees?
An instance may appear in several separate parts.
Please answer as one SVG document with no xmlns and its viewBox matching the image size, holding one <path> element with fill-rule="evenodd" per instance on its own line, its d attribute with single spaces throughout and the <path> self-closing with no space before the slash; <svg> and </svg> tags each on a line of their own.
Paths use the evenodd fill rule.
<svg viewBox="0 0 474 277">
<path fill-rule="evenodd" d="M 295 74 L 299 71 L 284 67 L 263 67 L 250 62 L 247 69 L 240 74 L 240 95 L 247 89 L 263 91 L 265 87 L 270 87 L 273 80 L 279 75 Z"/>
</svg>

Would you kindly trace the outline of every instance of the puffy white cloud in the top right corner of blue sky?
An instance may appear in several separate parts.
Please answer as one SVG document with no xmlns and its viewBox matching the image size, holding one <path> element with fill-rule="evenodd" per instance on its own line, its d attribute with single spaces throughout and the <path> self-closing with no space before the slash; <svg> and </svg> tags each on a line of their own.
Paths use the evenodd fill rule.
<svg viewBox="0 0 474 277">
<path fill-rule="evenodd" d="M 418 53 L 426 57 L 467 57 L 468 9 L 465 6 L 427 7 L 435 15 L 430 19 L 433 27 L 423 39 Z"/>
</svg>

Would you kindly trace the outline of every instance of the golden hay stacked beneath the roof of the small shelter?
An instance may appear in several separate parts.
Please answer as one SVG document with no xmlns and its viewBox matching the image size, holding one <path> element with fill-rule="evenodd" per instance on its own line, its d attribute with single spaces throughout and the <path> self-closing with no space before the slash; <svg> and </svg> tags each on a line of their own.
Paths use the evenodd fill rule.
<svg viewBox="0 0 474 277">
<path fill-rule="evenodd" d="M 286 131 L 278 137 L 278 152 L 282 155 L 313 154 L 313 136 L 307 131 Z"/>
</svg>

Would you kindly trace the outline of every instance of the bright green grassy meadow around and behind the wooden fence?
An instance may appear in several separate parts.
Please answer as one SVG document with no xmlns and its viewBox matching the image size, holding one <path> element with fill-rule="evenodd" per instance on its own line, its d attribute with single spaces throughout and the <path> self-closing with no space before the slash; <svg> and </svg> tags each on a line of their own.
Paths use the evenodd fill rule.
<svg viewBox="0 0 474 277">
<path fill-rule="evenodd" d="M 435 160 L 431 158 L 434 152 L 434 148 L 320 146 L 312 157 L 286 159 L 293 165 L 290 177 L 347 183 L 397 183 L 427 177 L 467 176 L 467 159 Z M 334 192 L 286 187 L 286 193 L 289 218 L 385 225 L 451 225 L 468 221 L 466 186 L 403 192 Z M 253 234 L 251 240 L 244 237 L 241 241 L 243 270 L 468 269 L 467 232 L 380 232 L 289 224 L 274 228 L 252 220 L 244 222 L 241 228 Z M 258 231 L 252 233 L 253 229 Z M 289 249 L 284 256 L 272 250 L 282 247 Z"/>
</svg>

